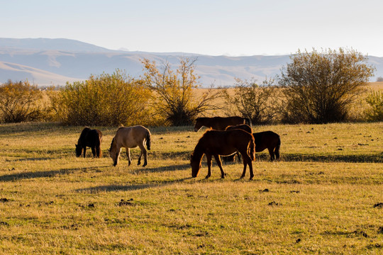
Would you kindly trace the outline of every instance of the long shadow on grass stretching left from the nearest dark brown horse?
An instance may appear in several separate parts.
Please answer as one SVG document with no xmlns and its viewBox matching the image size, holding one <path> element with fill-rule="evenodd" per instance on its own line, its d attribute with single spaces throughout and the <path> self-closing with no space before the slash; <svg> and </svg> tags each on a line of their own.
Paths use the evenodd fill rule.
<svg viewBox="0 0 383 255">
<path fill-rule="evenodd" d="M 126 185 L 102 185 L 102 186 L 95 186 L 95 187 L 89 187 L 89 188 L 79 188 L 75 190 L 76 192 L 80 193 L 99 193 L 99 192 L 114 192 L 114 191 L 137 191 L 147 188 L 158 188 L 158 187 L 164 187 L 169 186 L 174 183 L 182 183 L 183 181 L 192 179 L 192 177 L 187 177 L 183 179 L 177 179 L 172 181 L 152 181 L 150 183 L 142 183 L 142 184 L 126 184 Z"/>
</svg>

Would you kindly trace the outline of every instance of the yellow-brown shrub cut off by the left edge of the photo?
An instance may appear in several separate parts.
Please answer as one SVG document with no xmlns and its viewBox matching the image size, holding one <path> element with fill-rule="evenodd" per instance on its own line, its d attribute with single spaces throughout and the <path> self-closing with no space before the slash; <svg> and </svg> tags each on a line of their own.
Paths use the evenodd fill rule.
<svg viewBox="0 0 383 255">
<path fill-rule="evenodd" d="M 28 81 L 7 81 L 0 86 L 1 122 L 20 123 L 43 120 L 43 92 Z"/>
</svg>

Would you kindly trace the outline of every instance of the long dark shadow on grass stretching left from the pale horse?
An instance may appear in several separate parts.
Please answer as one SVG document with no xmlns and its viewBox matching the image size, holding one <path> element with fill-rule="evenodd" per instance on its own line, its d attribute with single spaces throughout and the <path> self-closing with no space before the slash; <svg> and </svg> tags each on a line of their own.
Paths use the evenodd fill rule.
<svg viewBox="0 0 383 255">
<path fill-rule="evenodd" d="M 73 169 L 59 169 L 59 170 L 51 170 L 51 171 L 30 171 L 23 172 L 18 174 L 6 174 L 4 176 L 0 176 L 0 181 L 17 181 L 22 179 L 37 179 L 37 178 L 45 178 L 45 177 L 53 177 L 63 174 L 72 174 L 75 171 L 91 171 L 94 169 L 107 168 L 110 166 L 97 166 L 95 167 L 81 167 L 81 168 L 73 168 Z"/>
</svg>

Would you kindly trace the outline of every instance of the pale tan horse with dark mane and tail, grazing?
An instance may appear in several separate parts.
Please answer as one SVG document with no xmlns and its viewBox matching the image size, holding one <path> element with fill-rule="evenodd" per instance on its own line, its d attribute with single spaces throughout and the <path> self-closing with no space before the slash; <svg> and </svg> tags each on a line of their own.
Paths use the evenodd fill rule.
<svg viewBox="0 0 383 255">
<path fill-rule="evenodd" d="M 144 164 L 148 164 L 148 152 L 145 149 L 145 143 L 148 150 L 150 150 L 150 131 L 148 128 L 142 125 L 135 125 L 133 127 L 121 127 L 118 128 L 116 135 L 114 135 L 109 148 L 109 156 L 113 159 L 113 166 L 118 163 L 118 157 L 120 156 L 121 148 L 126 148 L 126 156 L 128 157 L 128 166 L 131 165 L 131 149 L 140 147 L 141 153 L 138 157 L 138 165 L 141 164 L 141 157 L 144 155 Z"/>
</svg>

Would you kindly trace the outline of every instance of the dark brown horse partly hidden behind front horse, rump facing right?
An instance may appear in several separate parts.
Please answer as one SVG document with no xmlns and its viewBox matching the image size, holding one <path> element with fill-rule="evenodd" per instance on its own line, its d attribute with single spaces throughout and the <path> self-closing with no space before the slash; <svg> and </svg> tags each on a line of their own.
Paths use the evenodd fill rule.
<svg viewBox="0 0 383 255">
<path fill-rule="evenodd" d="M 248 125 L 235 125 L 229 126 L 226 130 L 241 129 L 246 132 L 252 132 L 250 126 Z M 279 135 L 272 131 L 264 132 L 255 132 L 252 133 L 252 136 L 255 140 L 255 152 L 262 152 L 265 149 L 269 150 L 270 160 L 274 161 L 277 159 L 279 161 L 279 148 L 281 147 L 281 138 Z M 233 161 L 233 159 L 228 159 L 228 161 Z"/>
</svg>

